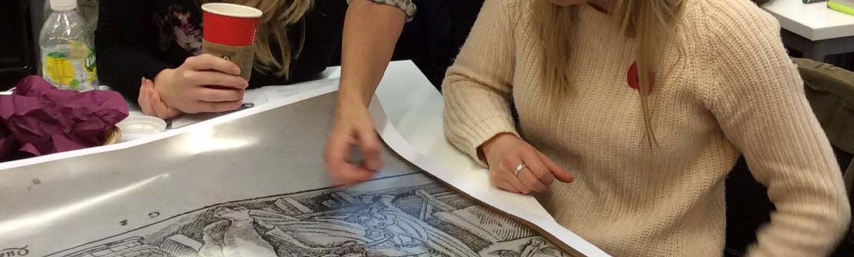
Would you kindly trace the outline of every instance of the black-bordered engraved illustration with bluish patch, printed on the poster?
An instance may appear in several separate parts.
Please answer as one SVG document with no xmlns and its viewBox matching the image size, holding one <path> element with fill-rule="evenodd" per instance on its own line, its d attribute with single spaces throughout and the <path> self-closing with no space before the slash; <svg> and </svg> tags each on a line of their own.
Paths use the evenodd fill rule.
<svg viewBox="0 0 854 257">
<path fill-rule="evenodd" d="M 570 256 L 422 174 L 203 207 L 64 257 Z"/>
</svg>

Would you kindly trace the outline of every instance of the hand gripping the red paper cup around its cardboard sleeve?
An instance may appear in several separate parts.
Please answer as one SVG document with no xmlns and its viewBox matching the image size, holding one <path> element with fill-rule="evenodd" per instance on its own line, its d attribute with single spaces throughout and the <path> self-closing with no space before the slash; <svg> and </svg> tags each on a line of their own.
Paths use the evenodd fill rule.
<svg viewBox="0 0 854 257">
<path fill-rule="evenodd" d="M 155 91 L 167 106 L 188 114 L 231 111 L 243 104 L 249 86 L 240 68 L 213 56 L 187 58 L 181 67 L 165 69 L 155 77 Z"/>
</svg>

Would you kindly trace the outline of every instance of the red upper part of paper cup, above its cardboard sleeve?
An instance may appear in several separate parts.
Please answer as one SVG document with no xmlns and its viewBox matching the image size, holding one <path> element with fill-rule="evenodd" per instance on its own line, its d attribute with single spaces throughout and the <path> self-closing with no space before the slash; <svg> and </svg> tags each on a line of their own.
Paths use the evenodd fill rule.
<svg viewBox="0 0 854 257">
<path fill-rule="evenodd" d="M 230 46 L 254 44 L 264 14 L 259 9 L 231 3 L 205 3 L 202 12 L 202 37 L 211 43 Z"/>
</svg>

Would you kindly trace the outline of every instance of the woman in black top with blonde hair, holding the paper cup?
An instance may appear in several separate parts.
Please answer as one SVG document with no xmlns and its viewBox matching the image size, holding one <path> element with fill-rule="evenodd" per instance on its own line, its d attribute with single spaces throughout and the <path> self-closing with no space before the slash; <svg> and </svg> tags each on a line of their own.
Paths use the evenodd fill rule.
<svg viewBox="0 0 854 257">
<path fill-rule="evenodd" d="M 102 0 L 95 40 L 99 78 L 141 103 L 152 102 L 149 93 L 154 93 L 163 107 L 155 110 L 161 112 L 149 104 L 143 111 L 169 118 L 238 108 L 243 90 L 316 79 L 338 57 L 348 9 L 344 0 L 222 1 L 264 11 L 247 82 L 231 62 L 199 55 L 201 4 L 208 2 Z"/>
</svg>

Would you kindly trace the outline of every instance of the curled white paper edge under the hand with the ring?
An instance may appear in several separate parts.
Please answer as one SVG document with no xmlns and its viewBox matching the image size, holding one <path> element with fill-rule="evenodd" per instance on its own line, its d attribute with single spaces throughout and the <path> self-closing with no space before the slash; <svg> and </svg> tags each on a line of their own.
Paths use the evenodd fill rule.
<svg viewBox="0 0 854 257">
<path fill-rule="evenodd" d="M 421 73 L 410 73 L 409 63 L 389 66 L 371 102 L 371 116 L 380 137 L 399 155 L 493 207 L 558 237 L 587 256 L 609 256 L 559 225 L 533 196 L 498 190 L 489 182 L 488 171 L 454 149 L 443 130 L 444 102 Z M 414 67 L 414 65 L 412 65 Z"/>
</svg>

